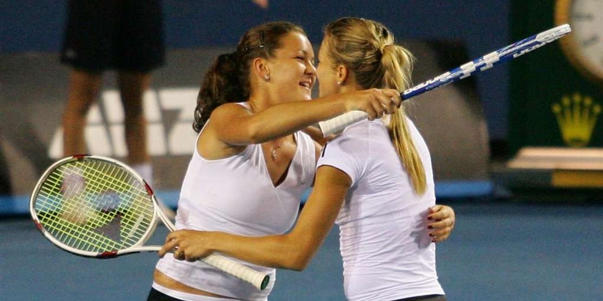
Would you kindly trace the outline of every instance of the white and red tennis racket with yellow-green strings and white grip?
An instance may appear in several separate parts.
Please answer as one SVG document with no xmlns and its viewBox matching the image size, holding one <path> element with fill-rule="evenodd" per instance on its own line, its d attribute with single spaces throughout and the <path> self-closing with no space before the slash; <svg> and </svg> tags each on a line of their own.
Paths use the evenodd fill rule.
<svg viewBox="0 0 603 301">
<path fill-rule="evenodd" d="M 144 245 L 159 220 L 174 231 L 147 182 L 126 164 L 100 156 L 67 157 L 48 167 L 31 194 L 30 213 L 56 246 L 94 258 L 159 251 L 161 246 Z M 270 281 L 224 256 L 200 260 L 259 290 Z"/>
</svg>

